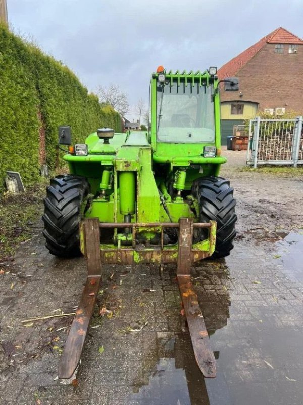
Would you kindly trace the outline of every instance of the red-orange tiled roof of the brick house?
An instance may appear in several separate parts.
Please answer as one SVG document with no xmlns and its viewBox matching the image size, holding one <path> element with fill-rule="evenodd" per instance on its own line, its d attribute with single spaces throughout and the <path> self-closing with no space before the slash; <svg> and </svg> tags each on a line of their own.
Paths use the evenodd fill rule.
<svg viewBox="0 0 303 405">
<path fill-rule="evenodd" d="M 287 31 L 286 29 L 280 27 L 275 29 L 270 34 L 266 35 L 264 38 L 260 39 L 260 41 L 256 42 L 256 44 L 251 45 L 251 47 L 245 49 L 245 51 L 241 52 L 238 56 L 231 59 L 229 62 L 225 63 L 220 69 L 218 70 L 218 77 L 220 80 L 224 79 L 225 77 L 233 77 L 246 63 L 254 57 L 264 46 L 266 43 L 271 44 L 303 44 L 302 39 L 298 36 L 293 35 L 291 32 Z"/>
</svg>

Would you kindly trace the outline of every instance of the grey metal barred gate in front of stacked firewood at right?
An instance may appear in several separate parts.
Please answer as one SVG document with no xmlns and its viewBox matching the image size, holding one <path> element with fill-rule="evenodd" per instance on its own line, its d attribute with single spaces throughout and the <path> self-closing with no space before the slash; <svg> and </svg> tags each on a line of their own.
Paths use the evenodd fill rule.
<svg viewBox="0 0 303 405">
<path fill-rule="evenodd" d="M 250 119 L 247 165 L 303 164 L 303 117 Z"/>
</svg>

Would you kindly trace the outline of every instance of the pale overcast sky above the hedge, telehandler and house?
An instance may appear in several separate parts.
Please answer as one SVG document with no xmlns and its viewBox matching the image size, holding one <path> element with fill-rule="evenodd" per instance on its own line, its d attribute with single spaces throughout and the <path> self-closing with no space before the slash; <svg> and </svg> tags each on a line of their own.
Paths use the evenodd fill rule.
<svg viewBox="0 0 303 405">
<path fill-rule="evenodd" d="M 90 90 L 116 83 L 131 105 L 151 72 L 205 70 L 279 26 L 303 38 L 303 0 L 7 0 L 10 24 Z M 134 114 L 130 114 L 134 117 Z"/>
</svg>

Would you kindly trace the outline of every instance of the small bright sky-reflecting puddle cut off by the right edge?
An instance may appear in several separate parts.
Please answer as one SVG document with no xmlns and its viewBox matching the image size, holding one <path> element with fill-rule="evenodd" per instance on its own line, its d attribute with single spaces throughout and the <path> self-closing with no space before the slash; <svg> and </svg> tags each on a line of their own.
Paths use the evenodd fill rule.
<svg viewBox="0 0 303 405">
<path fill-rule="evenodd" d="M 275 263 L 281 271 L 291 280 L 303 281 L 303 234 L 291 232 L 276 246 Z"/>
</svg>

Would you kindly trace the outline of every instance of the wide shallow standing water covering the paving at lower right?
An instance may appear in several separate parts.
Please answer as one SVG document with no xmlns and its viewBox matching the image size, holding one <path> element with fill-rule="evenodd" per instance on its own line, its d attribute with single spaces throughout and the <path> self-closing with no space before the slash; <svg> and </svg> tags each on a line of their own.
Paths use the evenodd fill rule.
<svg viewBox="0 0 303 405">
<path fill-rule="evenodd" d="M 303 235 L 289 234 L 283 241 L 277 242 L 277 246 L 281 254 L 279 260 L 283 264 L 281 270 L 289 271 L 301 286 L 299 280 L 303 280 L 301 265 Z M 207 265 L 209 269 L 199 273 L 201 277 L 195 286 L 209 331 L 211 347 L 215 350 L 217 377 L 204 379 L 196 365 L 188 334 L 158 332 L 157 351 L 147 359 L 142 369 L 145 370 L 145 378 L 144 371 L 142 372 L 144 383 L 134 388 L 129 403 L 141 405 L 302 403 L 303 321 L 296 313 L 284 312 L 282 306 L 271 295 L 260 296 L 257 288 L 239 293 L 250 294 L 253 301 L 246 302 L 243 295 L 239 297 L 239 294 L 233 293 L 231 279 L 233 284 L 234 282 L 241 284 L 241 277 L 247 279 L 246 272 L 243 274 L 241 270 L 239 271 L 241 265 L 239 266 L 238 260 L 241 255 L 247 262 L 254 263 L 252 268 L 255 272 L 256 269 L 263 269 L 266 265 L 263 259 L 260 261 L 256 259 L 255 253 L 258 250 L 254 249 L 259 248 L 251 247 L 248 250 L 245 248 L 245 252 L 240 249 L 234 252 L 228 260 L 229 269 L 224 263 L 223 266 L 222 264 L 217 266 L 219 267 L 217 271 L 211 270 L 212 265 L 216 266 L 216 262 Z M 250 279 L 248 280 L 250 283 Z M 243 289 L 245 290 L 244 286 Z M 251 300 L 248 296 L 249 299 Z M 282 301 L 284 305 L 286 301 Z M 251 307 L 249 303 L 252 304 Z M 298 301 L 297 308 L 299 305 L 303 309 L 302 303 Z"/>
</svg>

